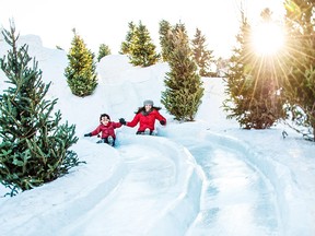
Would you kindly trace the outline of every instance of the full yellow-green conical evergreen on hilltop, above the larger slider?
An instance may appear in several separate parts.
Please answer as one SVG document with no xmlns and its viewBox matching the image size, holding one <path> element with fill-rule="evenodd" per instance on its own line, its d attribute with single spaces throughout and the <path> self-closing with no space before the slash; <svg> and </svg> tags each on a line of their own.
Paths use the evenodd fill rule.
<svg viewBox="0 0 315 236">
<path fill-rule="evenodd" d="M 128 58 L 130 62 L 133 66 L 149 67 L 155 64 L 159 57 L 149 31 L 140 21 L 129 45 Z"/>
</svg>

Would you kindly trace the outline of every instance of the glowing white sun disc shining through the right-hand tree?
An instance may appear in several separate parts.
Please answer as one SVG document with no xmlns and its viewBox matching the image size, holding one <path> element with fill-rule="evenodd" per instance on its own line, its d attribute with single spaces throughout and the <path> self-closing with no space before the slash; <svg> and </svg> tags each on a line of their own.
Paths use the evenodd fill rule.
<svg viewBox="0 0 315 236">
<path fill-rule="evenodd" d="M 256 54 L 272 56 L 284 46 L 283 28 L 272 22 L 261 23 L 254 28 L 252 43 Z"/>
</svg>

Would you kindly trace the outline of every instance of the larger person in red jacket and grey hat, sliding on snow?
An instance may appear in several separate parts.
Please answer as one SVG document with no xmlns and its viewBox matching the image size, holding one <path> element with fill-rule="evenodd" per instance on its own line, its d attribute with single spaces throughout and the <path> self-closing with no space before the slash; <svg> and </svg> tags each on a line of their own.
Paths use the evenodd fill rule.
<svg viewBox="0 0 315 236">
<path fill-rule="evenodd" d="M 153 134 L 155 120 L 159 120 L 162 126 L 166 125 L 166 119 L 159 113 L 161 107 L 154 107 L 153 101 L 147 99 L 143 102 L 143 107 L 139 107 L 136 116 L 130 122 L 124 118 L 119 119 L 121 125 L 135 127 L 139 123 L 137 134 Z"/>
</svg>

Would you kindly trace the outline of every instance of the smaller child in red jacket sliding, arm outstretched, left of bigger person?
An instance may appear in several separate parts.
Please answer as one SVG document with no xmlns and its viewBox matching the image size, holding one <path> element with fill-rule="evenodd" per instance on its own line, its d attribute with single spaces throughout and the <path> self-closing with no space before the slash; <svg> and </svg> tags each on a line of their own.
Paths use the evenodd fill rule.
<svg viewBox="0 0 315 236">
<path fill-rule="evenodd" d="M 116 140 L 115 129 L 121 127 L 121 123 L 112 122 L 107 114 L 101 115 L 100 122 L 101 125 L 94 131 L 85 133 L 84 137 L 93 137 L 102 132 L 101 140 L 97 143 L 107 143 L 114 146 Z"/>
</svg>

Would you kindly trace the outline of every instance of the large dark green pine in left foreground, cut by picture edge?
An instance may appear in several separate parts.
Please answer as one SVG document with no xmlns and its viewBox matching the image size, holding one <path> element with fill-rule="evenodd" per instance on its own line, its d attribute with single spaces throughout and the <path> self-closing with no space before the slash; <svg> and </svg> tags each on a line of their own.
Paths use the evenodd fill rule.
<svg viewBox="0 0 315 236">
<path fill-rule="evenodd" d="M 13 23 L 2 34 L 12 48 L 0 59 L 10 84 L 0 99 L 0 180 L 13 196 L 67 174 L 80 162 L 69 150 L 78 141 L 75 127 L 59 125 L 60 110 L 51 115 L 57 99 L 45 99 L 50 83 L 43 83 L 28 46 L 18 48 Z"/>
</svg>

